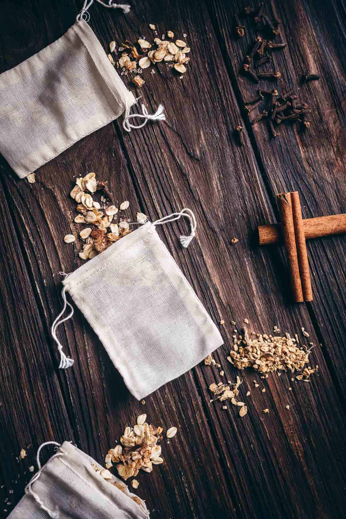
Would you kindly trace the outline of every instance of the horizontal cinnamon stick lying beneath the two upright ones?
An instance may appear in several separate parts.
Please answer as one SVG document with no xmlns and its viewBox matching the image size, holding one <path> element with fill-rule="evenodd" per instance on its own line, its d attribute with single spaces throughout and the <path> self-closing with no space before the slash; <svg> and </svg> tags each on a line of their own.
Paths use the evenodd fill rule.
<svg viewBox="0 0 346 519">
<path fill-rule="evenodd" d="M 346 214 L 303 218 L 303 229 L 306 240 L 346 233 Z M 281 225 L 259 225 L 258 236 L 260 245 L 279 243 L 282 241 Z"/>
</svg>

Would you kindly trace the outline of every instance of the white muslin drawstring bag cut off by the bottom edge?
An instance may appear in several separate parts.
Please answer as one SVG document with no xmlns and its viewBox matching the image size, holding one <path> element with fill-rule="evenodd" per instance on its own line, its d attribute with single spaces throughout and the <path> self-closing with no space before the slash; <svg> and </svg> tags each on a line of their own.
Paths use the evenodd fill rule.
<svg viewBox="0 0 346 519">
<path fill-rule="evenodd" d="M 58 447 L 41 467 L 42 447 Z M 70 442 L 43 443 L 37 452 L 38 472 L 25 487 L 25 495 L 8 519 L 146 519 L 142 499 L 117 477 L 105 480 L 103 467 Z M 107 471 L 108 473 L 108 471 Z M 110 473 L 107 474 L 109 476 Z"/>
</svg>

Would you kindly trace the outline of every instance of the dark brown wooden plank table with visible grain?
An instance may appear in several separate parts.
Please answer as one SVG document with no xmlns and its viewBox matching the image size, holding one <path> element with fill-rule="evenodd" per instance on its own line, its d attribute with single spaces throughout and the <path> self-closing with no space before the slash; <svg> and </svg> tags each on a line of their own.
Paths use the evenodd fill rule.
<svg viewBox="0 0 346 519">
<path fill-rule="evenodd" d="M 22 496 L 40 443 L 72 440 L 102 462 L 124 427 L 143 412 L 153 424 L 178 428 L 170 444 L 163 442 L 164 464 L 137 478 L 136 492 L 151 517 L 345 515 L 345 236 L 308 242 L 314 300 L 300 305 L 289 300 L 282 248 L 260 249 L 253 239 L 257 225 L 278 221 L 276 193 L 298 190 L 303 217 L 346 212 L 345 5 L 266 5 L 269 16 L 282 21 L 277 39 L 288 44 L 273 52 L 273 67 L 282 73 L 278 87 L 296 86 L 312 107 L 309 131 L 282 125 L 275 140 L 269 140 L 266 124 L 251 126 L 243 111 L 257 89 L 239 74 L 254 25 L 246 20 L 242 39 L 232 30 L 233 13 L 245 5 L 150 0 L 135 2 L 125 16 L 94 4 L 90 25 L 105 49 L 112 39 L 120 45 L 152 37 L 150 22 L 159 37 L 167 30 L 187 34 L 191 60 L 182 80 L 160 65 L 155 75 L 144 72 L 141 90 L 126 79 L 151 110 L 163 102 L 167 122 L 128 134 L 120 118 L 40 168 L 35 184 L 18 180 L 0 161 L 1 517 Z M 0 71 L 60 37 L 80 7 L 79 0 L 3 0 Z M 307 69 L 321 79 L 301 85 Z M 244 127 L 243 147 L 232 135 L 238 124 Z M 198 365 L 142 405 L 79 311 L 59 331 L 75 365 L 57 369 L 50 326 L 61 308 L 59 271 L 81 264 L 78 241 L 63 241 L 79 229 L 68 194 L 73 177 L 89 171 L 108 181 L 119 202 L 130 200 L 134 214 L 139 210 L 154 220 L 182 207 L 195 212 L 197 238 L 187 250 L 176 239 L 178 226 L 159 233 L 214 321 L 225 320 L 225 345 L 214 354 L 224 377 L 214 366 Z M 233 237 L 239 242 L 232 244 Z M 245 317 L 255 332 L 279 325 L 281 332 L 303 338 L 304 326 L 316 344 L 311 364 L 319 365 L 319 373 L 309 384 L 291 382 L 285 373 L 265 380 L 243 373 L 240 396 L 248 413 L 240 418 L 231 404 L 227 410 L 220 402 L 209 405 L 208 386 L 236 377 L 226 360 L 231 321 L 240 329 Z M 22 447 L 27 457 L 18 460 Z"/>
</svg>

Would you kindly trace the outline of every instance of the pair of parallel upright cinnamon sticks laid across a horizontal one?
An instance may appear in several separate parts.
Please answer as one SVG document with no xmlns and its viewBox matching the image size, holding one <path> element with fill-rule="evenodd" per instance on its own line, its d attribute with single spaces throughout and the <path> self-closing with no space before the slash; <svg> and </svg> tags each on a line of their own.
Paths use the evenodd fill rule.
<svg viewBox="0 0 346 519">
<path fill-rule="evenodd" d="M 298 192 L 280 193 L 278 204 L 294 301 L 312 301 L 309 260 Z"/>
</svg>

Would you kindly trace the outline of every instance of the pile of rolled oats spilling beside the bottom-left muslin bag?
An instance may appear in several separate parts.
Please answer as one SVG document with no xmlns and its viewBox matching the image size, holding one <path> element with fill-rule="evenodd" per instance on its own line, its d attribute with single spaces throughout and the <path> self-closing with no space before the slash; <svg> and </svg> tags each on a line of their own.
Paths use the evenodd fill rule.
<svg viewBox="0 0 346 519">
<path fill-rule="evenodd" d="M 105 458 L 106 468 L 113 463 L 118 463 L 117 471 L 123 480 L 136 476 L 139 470 L 151 472 L 153 465 L 163 463 L 161 446 L 158 442 L 162 439 L 162 427 L 154 427 L 147 424 L 147 415 L 137 417 L 137 423 L 133 427 L 127 427 L 120 438 L 121 445 L 109 449 Z M 172 438 L 177 432 L 176 427 L 167 431 L 167 438 Z M 133 484 L 133 482 L 135 482 Z M 138 482 L 133 480 L 131 485 L 137 488 Z"/>
</svg>

